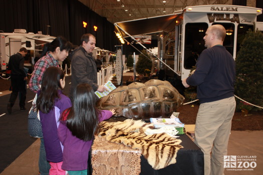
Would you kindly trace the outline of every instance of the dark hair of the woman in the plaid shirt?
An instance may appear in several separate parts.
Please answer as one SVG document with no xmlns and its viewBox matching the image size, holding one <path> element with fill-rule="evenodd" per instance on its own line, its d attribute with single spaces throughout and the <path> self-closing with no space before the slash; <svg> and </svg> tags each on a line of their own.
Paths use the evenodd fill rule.
<svg viewBox="0 0 263 175">
<path fill-rule="evenodd" d="M 48 42 L 44 45 L 41 57 L 45 56 L 47 51 L 55 51 L 57 47 L 60 47 L 60 51 L 70 51 L 72 48 L 72 43 L 68 41 L 68 39 L 66 39 L 65 37 L 58 36 L 52 42 Z"/>
</svg>

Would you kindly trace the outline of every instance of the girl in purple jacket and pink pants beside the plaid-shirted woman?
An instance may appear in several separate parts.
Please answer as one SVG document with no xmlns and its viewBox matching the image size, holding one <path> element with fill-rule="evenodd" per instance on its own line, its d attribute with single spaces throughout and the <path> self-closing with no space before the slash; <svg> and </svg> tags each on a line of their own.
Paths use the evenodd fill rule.
<svg viewBox="0 0 263 175">
<path fill-rule="evenodd" d="M 63 94 L 64 72 L 58 67 L 49 67 L 43 75 L 41 90 L 38 92 L 37 108 L 42 124 L 46 157 L 51 168 L 49 174 L 63 174 L 63 146 L 58 137 L 60 114 L 71 107 L 70 98 Z"/>
</svg>

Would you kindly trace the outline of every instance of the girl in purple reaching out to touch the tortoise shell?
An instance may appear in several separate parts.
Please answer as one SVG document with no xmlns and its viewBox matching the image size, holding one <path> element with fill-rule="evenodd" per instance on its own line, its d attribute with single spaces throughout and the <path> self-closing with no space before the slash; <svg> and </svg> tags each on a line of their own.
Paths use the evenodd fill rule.
<svg viewBox="0 0 263 175">
<path fill-rule="evenodd" d="M 98 124 L 115 114 L 114 109 L 98 110 L 95 103 L 93 88 L 88 83 L 78 84 L 73 106 L 60 118 L 58 135 L 64 146 L 62 169 L 69 174 L 87 174 L 89 150 Z"/>
</svg>

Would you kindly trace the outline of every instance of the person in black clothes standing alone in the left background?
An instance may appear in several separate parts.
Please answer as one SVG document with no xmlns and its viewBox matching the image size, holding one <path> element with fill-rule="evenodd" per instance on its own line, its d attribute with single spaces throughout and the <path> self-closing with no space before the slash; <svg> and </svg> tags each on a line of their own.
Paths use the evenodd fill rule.
<svg viewBox="0 0 263 175">
<path fill-rule="evenodd" d="M 26 110 L 25 101 L 27 95 L 27 85 L 26 80 L 28 79 L 28 74 L 24 70 L 25 56 L 28 50 L 25 47 L 19 49 L 19 52 L 10 56 L 8 69 L 11 70 L 11 86 L 12 93 L 8 102 L 8 113 L 12 113 L 12 107 L 14 106 L 18 93 L 21 93 L 21 98 L 19 100 L 19 106 L 21 110 Z"/>
</svg>

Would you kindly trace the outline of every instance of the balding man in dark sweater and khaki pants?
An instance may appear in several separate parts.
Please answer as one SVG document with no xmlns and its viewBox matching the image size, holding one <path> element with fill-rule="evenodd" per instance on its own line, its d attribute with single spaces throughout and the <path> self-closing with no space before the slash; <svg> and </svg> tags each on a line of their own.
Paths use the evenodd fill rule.
<svg viewBox="0 0 263 175">
<path fill-rule="evenodd" d="M 224 174 L 223 155 L 227 155 L 231 120 L 235 110 L 235 62 L 223 46 L 225 28 L 207 28 L 205 47 L 197 59 L 196 70 L 182 80 L 185 87 L 197 86 L 200 101 L 194 142 L 204 153 L 204 174 Z M 211 153 L 211 154 L 210 154 Z"/>
</svg>

